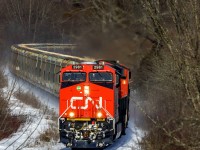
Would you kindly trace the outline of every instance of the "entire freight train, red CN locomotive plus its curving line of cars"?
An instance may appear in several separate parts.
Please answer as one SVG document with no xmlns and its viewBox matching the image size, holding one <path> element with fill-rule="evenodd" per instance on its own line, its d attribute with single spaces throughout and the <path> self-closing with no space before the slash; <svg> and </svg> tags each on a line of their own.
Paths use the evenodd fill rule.
<svg viewBox="0 0 200 150">
<path fill-rule="evenodd" d="M 75 47 L 13 45 L 10 70 L 59 97 L 62 143 L 72 149 L 104 148 L 125 134 L 131 72 L 117 61 L 59 53 L 74 51 Z"/>
</svg>

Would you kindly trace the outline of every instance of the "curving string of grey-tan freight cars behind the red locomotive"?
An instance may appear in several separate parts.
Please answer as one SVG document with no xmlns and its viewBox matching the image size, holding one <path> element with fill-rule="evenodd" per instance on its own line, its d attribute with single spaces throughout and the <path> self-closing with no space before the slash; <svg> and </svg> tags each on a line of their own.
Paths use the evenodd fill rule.
<svg viewBox="0 0 200 150">
<path fill-rule="evenodd" d="M 72 56 L 78 53 L 75 44 L 18 44 L 12 45 L 11 71 L 24 80 L 58 96 L 59 71 L 69 64 L 94 61 L 88 57 Z M 65 54 L 62 54 L 62 53 Z"/>
</svg>

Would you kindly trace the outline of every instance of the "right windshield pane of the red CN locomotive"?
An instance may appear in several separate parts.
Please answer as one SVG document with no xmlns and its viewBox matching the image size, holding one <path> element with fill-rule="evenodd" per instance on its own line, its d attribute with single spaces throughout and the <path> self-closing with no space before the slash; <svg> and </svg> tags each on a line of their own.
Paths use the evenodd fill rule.
<svg viewBox="0 0 200 150">
<path fill-rule="evenodd" d="M 89 79 L 92 82 L 95 81 L 112 81 L 112 73 L 111 72 L 91 72 L 89 74 Z"/>
</svg>

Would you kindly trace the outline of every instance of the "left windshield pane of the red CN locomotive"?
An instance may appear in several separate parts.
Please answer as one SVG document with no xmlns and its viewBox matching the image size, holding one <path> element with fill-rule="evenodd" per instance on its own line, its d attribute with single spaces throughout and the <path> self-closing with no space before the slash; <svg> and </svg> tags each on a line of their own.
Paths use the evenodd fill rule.
<svg viewBox="0 0 200 150">
<path fill-rule="evenodd" d="M 64 72 L 63 81 L 85 81 L 86 73 L 85 72 Z"/>
</svg>

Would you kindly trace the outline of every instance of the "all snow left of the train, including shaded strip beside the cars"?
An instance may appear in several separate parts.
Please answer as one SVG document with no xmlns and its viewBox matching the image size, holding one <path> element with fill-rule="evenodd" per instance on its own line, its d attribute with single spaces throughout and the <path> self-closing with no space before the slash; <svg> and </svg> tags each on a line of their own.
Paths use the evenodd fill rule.
<svg viewBox="0 0 200 150">
<path fill-rule="evenodd" d="M 12 90 L 12 87 L 14 86 L 14 77 L 9 72 L 9 70 L 6 70 L 6 75 L 8 76 L 8 87 L 4 88 L 4 95 L 7 97 Z M 49 109 L 54 109 L 55 111 L 58 110 L 58 100 L 52 100 L 48 99 L 48 95 L 45 96 L 45 93 L 41 94 L 41 90 L 37 88 L 33 88 L 32 85 L 23 82 L 20 79 L 16 80 L 16 86 L 14 90 L 17 90 L 17 88 L 20 87 L 24 91 L 32 91 L 38 97 L 41 101 L 43 101 L 44 104 L 49 106 Z M 38 91 L 37 91 L 38 90 Z M 50 96 L 50 95 L 49 95 Z M 55 98 L 55 97 L 54 97 Z M 38 136 L 44 132 L 46 129 L 49 128 L 49 123 L 52 122 L 52 120 L 49 119 L 48 114 L 45 114 L 44 110 L 39 110 L 32 108 L 31 106 L 28 106 L 26 104 L 23 104 L 20 100 L 16 99 L 13 95 L 11 95 L 9 106 L 11 109 L 11 114 L 13 115 L 21 115 L 26 116 L 26 122 L 21 125 L 21 127 L 17 130 L 16 133 L 12 134 L 7 139 L 3 139 L 0 141 L 0 150 L 16 150 L 16 149 L 29 149 L 27 148 L 27 145 L 29 143 L 34 143 Z M 48 145 L 45 145 L 45 149 L 61 149 L 64 148 L 64 145 L 57 144 L 57 142 L 54 142 L 54 145 L 52 143 L 48 143 Z M 52 147 L 53 146 L 53 147 Z M 37 149 L 37 148 L 34 148 Z M 40 148 L 38 148 L 40 149 Z"/>
</svg>

